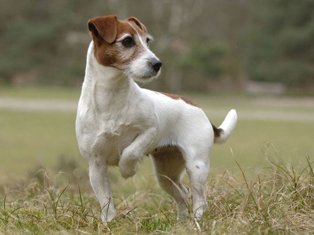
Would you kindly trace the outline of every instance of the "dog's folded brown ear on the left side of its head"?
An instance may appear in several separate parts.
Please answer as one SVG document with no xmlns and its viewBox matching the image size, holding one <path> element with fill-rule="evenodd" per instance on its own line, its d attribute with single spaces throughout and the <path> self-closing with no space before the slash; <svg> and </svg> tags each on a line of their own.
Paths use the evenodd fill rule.
<svg viewBox="0 0 314 235">
<path fill-rule="evenodd" d="M 97 38 L 113 43 L 117 36 L 117 16 L 95 17 L 88 21 L 88 29 Z"/>
</svg>

